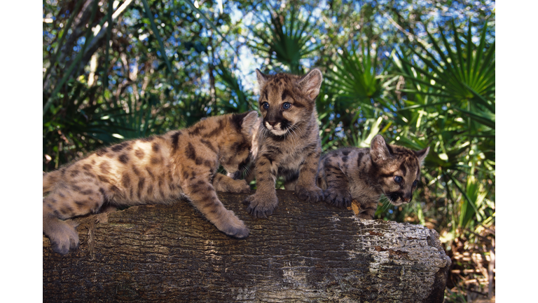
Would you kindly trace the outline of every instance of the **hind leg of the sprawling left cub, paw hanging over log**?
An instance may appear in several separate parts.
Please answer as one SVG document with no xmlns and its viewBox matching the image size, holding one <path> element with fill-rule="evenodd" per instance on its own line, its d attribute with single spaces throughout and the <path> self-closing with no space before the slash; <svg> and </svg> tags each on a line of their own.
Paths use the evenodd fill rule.
<svg viewBox="0 0 538 303">
<path fill-rule="evenodd" d="M 68 220 L 78 215 L 96 213 L 104 202 L 104 189 L 96 184 L 80 187 L 60 181 L 43 197 L 43 233 L 50 238 L 56 253 L 66 254 L 78 248 L 76 222 Z"/>
</svg>

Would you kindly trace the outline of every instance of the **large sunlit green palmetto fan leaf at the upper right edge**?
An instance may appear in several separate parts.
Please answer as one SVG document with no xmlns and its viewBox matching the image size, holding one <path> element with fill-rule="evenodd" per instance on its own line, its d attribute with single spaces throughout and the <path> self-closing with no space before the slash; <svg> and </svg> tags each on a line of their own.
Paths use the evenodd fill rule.
<svg viewBox="0 0 538 303">
<path fill-rule="evenodd" d="M 432 48 L 411 48 L 415 58 L 423 63 L 422 66 L 411 63 L 410 59 L 400 54 L 402 64 L 396 62 L 396 65 L 415 86 L 415 89 L 402 91 L 437 97 L 439 101 L 436 105 L 450 105 L 450 108 L 466 116 L 469 123 L 495 129 L 495 42 L 486 45 L 487 27 L 484 26 L 477 46 L 473 42 L 470 22 L 467 27 L 467 34 L 460 34 L 452 22 L 453 43 L 442 30 L 439 32 L 440 39 L 427 32 Z"/>
</svg>

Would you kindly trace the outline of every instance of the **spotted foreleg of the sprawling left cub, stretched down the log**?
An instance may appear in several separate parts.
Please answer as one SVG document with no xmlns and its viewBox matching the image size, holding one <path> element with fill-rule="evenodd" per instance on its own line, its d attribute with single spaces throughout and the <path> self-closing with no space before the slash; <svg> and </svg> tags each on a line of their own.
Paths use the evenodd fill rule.
<svg viewBox="0 0 538 303">
<path fill-rule="evenodd" d="M 188 180 L 188 184 L 182 188 L 195 208 L 198 208 L 217 229 L 234 238 L 247 238 L 249 229 L 233 211 L 223 206 L 208 180 Z"/>
</svg>

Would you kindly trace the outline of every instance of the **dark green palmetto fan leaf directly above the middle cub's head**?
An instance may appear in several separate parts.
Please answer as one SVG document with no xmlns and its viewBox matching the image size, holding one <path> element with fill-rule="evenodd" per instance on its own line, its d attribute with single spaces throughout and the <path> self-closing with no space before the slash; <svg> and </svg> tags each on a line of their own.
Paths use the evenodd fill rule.
<svg viewBox="0 0 538 303">
<path fill-rule="evenodd" d="M 303 73 L 300 60 L 319 48 L 309 43 L 310 35 L 305 34 L 312 29 L 310 25 L 312 11 L 305 20 L 299 18 L 296 6 L 291 6 L 289 13 L 287 11 L 278 13 L 271 8 L 268 8 L 268 11 L 270 19 L 263 22 L 268 31 L 265 28 L 250 27 L 251 32 L 262 41 L 261 45 L 251 44 L 251 47 L 261 51 L 265 57 L 287 65 L 290 72 Z"/>
</svg>

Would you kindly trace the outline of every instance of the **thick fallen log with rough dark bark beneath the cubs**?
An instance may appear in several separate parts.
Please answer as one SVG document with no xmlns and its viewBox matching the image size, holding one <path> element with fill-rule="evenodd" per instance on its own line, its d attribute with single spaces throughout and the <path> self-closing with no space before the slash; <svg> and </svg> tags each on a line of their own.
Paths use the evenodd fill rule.
<svg viewBox="0 0 538 303">
<path fill-rule="evenodd" d="M 43 236 L 43 302 L 443 302 L 450 259 L 421 225 L 360 220 L 277 191 L 268 219 L 219 198 L 250 228 L 228 238 L 189 203 L 77 219 L 81 247 Z"/>
</svg>

